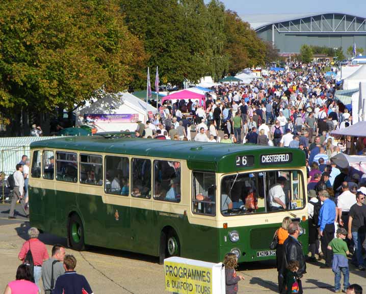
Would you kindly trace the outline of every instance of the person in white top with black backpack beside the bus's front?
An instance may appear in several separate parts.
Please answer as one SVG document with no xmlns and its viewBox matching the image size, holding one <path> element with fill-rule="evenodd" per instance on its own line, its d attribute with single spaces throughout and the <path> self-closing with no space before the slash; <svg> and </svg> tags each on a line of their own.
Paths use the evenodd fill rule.
<svg viewBox="0 0 366 294">
<path fill-rule="evenodd" d="M 308 206 L 307 212 L 309 216 L 309 251 L 311 256 L 309 257 L 310 262 L 316 262 L 315 254 L 319 249 L 319 238 L 318 238 L 318 219 L 319 211 L 322 207 L 320 200 L 317 197 L 315 190 L 309 190 L 308 194 Z M 319 252 L 318 252 L 319 253 Z"/>
</svg>

